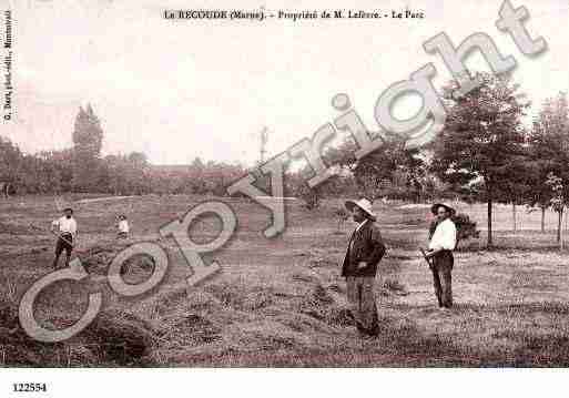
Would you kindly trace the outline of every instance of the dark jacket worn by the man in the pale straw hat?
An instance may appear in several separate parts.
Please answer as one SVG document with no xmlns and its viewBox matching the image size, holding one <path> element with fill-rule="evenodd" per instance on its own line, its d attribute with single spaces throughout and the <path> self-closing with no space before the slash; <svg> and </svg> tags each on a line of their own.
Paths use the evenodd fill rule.
<svg viewBox="0 0 569 398">
<path fill-rule="evenodd" d="M 354 231 L 349 242 L 352 243 L 352 251 L 348 243 L 344 264 L 342 265 L 342 276 L 375 276 L 377 264 L 386 252 L 377 225 L 368 220 L 359 231 Z M 366 262 L 367 266 L 357 269 L 359 262 Z"/>
</svg>

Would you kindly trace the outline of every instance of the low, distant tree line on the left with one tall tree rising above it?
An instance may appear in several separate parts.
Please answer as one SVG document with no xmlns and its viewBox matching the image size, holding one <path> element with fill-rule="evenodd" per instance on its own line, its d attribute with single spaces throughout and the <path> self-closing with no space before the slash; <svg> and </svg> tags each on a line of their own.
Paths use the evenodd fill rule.
<svg viewBox="0 0 569 398">
<path fill-rule="evenodd" d="M 103 137 L 90 104 L 75 116 L 72 147 L 26 154 L 0 136 L 0 182 L 9 183 L 12 194 L 224 195 L 225 186 L 245 172 L 199 157 L 186 166 L 154 166 L 142 152 L 102 156 Z"/>
</svg>

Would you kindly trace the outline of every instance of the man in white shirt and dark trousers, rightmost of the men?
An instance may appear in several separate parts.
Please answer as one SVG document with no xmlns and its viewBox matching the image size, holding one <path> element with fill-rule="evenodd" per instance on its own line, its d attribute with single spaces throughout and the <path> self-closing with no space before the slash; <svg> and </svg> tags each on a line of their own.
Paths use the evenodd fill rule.
<svg viewBox="0 0 569 398">
<path fill-rule="evenodd" d="M 430 258 L 435 295 L 438 306 L 443 309 L 453 307 L 453 266 L 455 258 L 453 251 L 456 247 L 457 231 L 450 217 L 455 210 L 441 203 L 430 207 L 430 212 L 437 216 L 429 227 L 429 248 L 427 258 Z"/>
</svg>

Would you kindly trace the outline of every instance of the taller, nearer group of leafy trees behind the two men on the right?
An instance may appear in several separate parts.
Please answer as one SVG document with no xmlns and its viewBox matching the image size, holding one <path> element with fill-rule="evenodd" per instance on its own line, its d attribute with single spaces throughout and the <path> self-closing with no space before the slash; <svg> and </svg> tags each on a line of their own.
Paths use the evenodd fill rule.
<svg viewBox="0 0 569 398">
<path fill-rule="evenodd" d="M 384 145 L 356 161 L 355 143 L 326 151 L 329 164 L 353 175 L 360 195 L 421 202 L 456 197 L 486 203 L 488 246 L 492 246 L 492 205 L 511 204 L 558 215 L 557 242 L 562 247 L 562 216 L 569 204 L 569 105 L 567 94 L 547 99 L 530 126 L 522 123 L 530 102 L 511 75 L 476 73 L 481 84 L 458 96 L 458 84 L 441 88 L 447 109 L 443 131 L 421 149 L 409 149 L 386 134 Z M 331 182 L 333 185 L 334 182 Z M 323 187 L 325 191 L 326 187 Z M 321 191 L 323 192 L 323 191 Z M 306 193 L 314 202 L 318 190 Z"/>
</svg>

